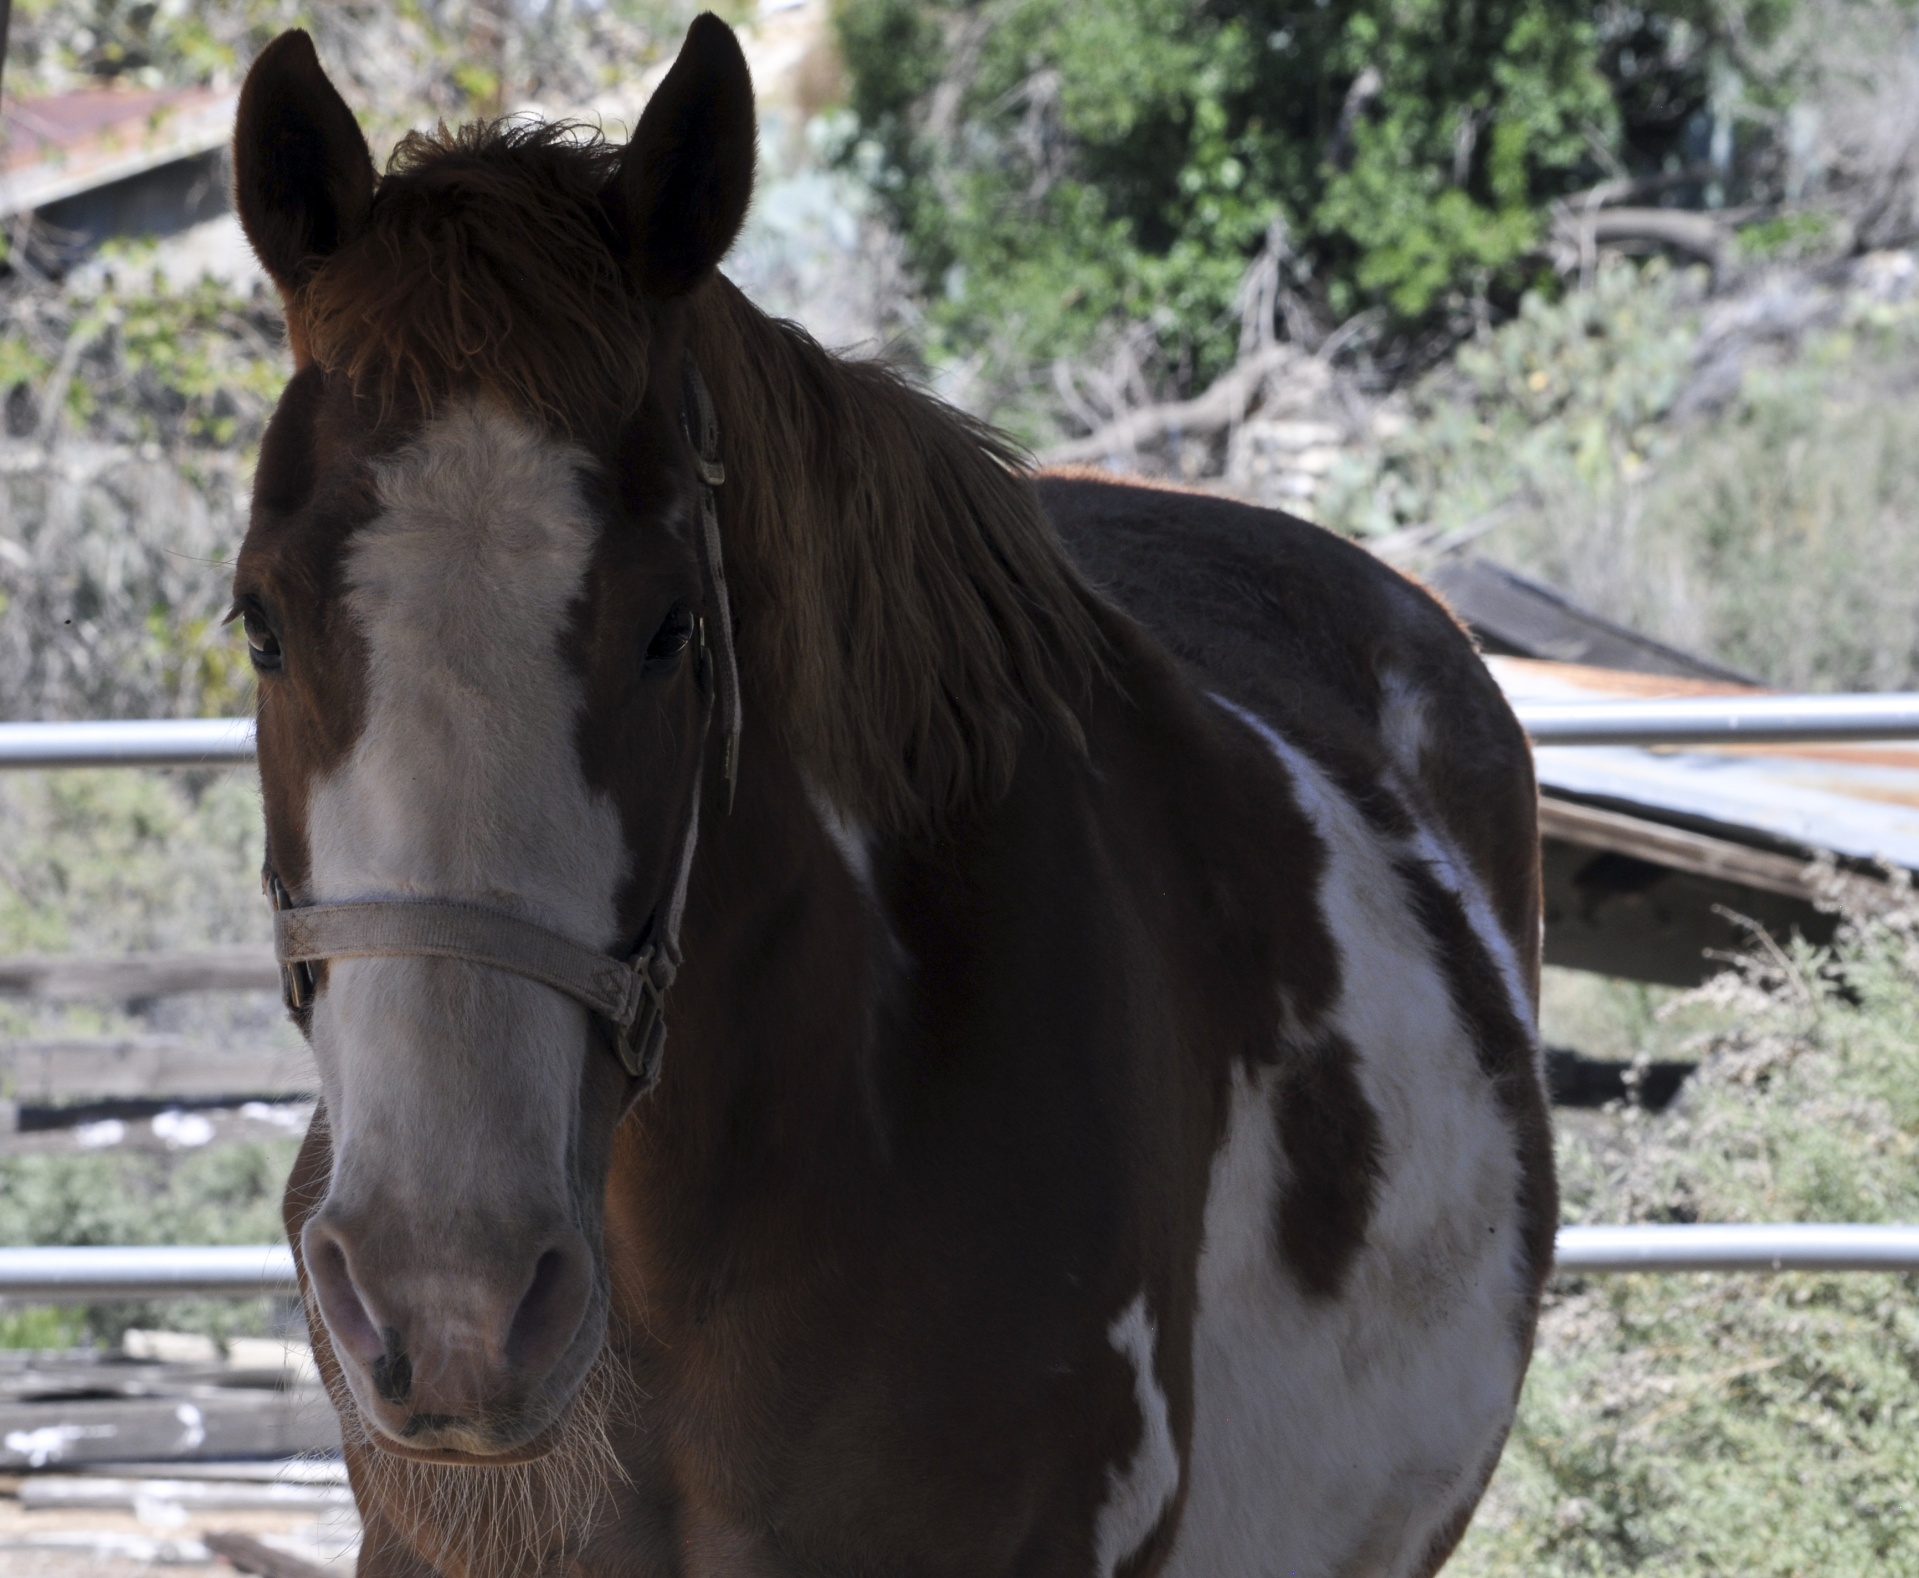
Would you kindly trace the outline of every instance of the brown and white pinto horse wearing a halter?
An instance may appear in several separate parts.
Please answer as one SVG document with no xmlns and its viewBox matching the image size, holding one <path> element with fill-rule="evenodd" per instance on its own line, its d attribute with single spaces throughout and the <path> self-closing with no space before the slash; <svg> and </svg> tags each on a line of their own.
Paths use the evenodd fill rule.
<svg viewBox="0 0 1919 1578">
<path fill-rule="evenodd" d="M 712 17 L 626 146 L 384 175 L 290 33 L 234 159 L 365 1578 L 1437 1568 L 1554 1225 L 1531 768 L 1451 618 L 758 313 Z"/>
</svg>

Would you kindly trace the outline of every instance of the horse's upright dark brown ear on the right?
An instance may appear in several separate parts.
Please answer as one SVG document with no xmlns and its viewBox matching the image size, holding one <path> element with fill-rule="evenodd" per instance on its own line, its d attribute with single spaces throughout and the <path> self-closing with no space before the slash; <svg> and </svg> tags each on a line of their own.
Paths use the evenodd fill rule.
<svg viewBox="0 0 1919 1578">
<path fill-rule="evenodd" d="M 622 261 L 643 292 L 681 296 L 725 257 L 752 198 L 754 142 L 746 56 L 704 12 L 606 190 Z"/>
</svg>

